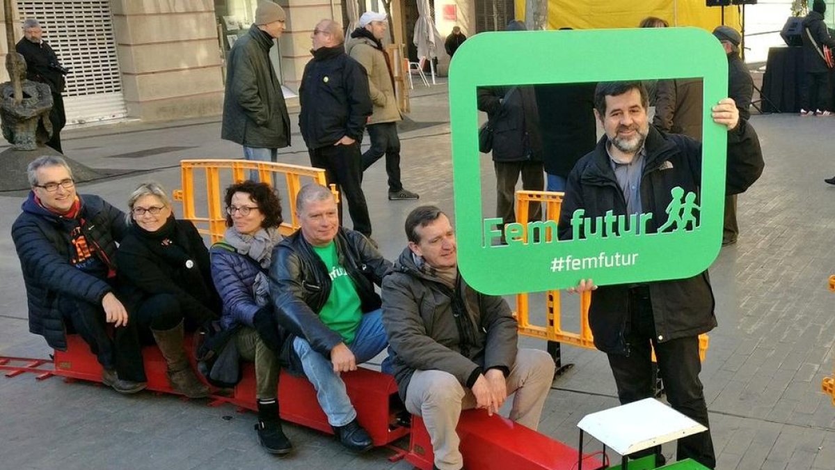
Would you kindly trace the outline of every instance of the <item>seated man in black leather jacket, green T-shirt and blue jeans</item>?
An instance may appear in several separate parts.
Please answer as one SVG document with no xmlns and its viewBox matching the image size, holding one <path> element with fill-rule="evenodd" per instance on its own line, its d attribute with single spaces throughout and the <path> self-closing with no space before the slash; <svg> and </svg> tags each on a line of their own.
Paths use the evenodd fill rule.
<svg viewBox="0 0 835 470">
<path fill-rule="evenodd" d="M 337 202 L 325 186 L 303 186 L 296 214 L 301 228 L 276 246 L 270 268 L 271 299 L 290 333 L 282 359 L 291 370 L 301 364 L 342 445 L 364 452 L 372 439 L 357 423 L 339 374 L 357 370 L 388 344 L 374 284 L 392 263 L 362 233 L 339 226 Z"/>
</svg>

